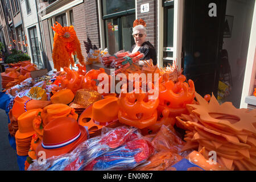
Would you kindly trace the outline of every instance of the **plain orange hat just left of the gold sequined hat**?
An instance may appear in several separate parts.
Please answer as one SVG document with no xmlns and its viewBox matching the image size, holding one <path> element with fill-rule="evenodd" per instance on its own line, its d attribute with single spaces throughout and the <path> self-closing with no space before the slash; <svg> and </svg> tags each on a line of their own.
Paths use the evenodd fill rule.
<svg viewBox="0 0 256 182">
<path fill-rule="evenodd" d="M 75 95 L 70 89 L 63 89 L 53 94 L 51 102 L 52 104 L 69 104 L 73 101 L 74 97 Z"/>
</svg>

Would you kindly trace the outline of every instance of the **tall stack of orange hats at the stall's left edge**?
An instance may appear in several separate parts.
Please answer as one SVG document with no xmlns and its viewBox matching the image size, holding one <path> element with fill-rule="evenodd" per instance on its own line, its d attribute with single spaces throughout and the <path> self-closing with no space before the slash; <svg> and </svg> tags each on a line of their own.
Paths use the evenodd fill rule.
<svg viewBox="0 0 256 182">
<path fill-rule="evenodd" d="M 37 111 L 37 109 L 29 110 L 18 118 L 19 130 L 15 134 L 15 140 L 17 154 L 20 156 L 28 155 L 28 151 L 30 150 L 32 135 L 35 134 L 32 121 Z"/>
</svg>

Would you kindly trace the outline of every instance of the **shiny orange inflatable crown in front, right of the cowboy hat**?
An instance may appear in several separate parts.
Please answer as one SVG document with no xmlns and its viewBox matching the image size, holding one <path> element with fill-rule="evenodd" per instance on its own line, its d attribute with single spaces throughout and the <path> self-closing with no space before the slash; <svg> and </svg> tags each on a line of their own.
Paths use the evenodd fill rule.
<svg viewBox="0 0 256 182">
<path fill-rule="evenodd" d="M 126 89 L 127 85 L 123 85 Z M 133 92 L 119 95 L 118 104 L 120 107 L 118 113 L 119 122 L 126 125 L 135 126 L 143 129 L 147 126 L 154 125 L 157 118 L 158 98 L 150 100 L 148 93 L 142 93 L 142 90 L 134 89 Z"/>
</svg>

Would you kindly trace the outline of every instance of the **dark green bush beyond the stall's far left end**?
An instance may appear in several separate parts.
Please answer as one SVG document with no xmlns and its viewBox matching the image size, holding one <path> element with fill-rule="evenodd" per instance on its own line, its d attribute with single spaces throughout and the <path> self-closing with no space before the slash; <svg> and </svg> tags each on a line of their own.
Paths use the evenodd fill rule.
<svg viewBox="0 0 256 182">
<path fill-rule="evenodd" d="M 5 63 L 18 63 L 19 61 L 27 61 L 31 60 L 30 56 L 28 56 L 26 53 L 23 53 L 22 51 L 17 51 L 16 49 L 11 49 L 11 53 L 7 56 L 5 56 Z"/>
</svg>

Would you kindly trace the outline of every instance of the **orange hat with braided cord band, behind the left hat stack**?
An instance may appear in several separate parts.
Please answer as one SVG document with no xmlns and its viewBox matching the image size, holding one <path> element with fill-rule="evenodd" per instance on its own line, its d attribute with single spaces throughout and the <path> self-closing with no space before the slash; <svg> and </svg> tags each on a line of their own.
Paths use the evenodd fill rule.
<svg viewBox="0 0 256 182">
<path fill-rule="evenodd" d="M 18 118 L 21 114 L 25 113 L 26 110 L 43 109 L 49 104 L 51 104 L 51 101 L 31 100 L 31 98 L 27 96 L 22 98 L 16 97 L 14 99 L 13 108 L 9 112 L 10 123 L 8 128 L 10 135 L 12 137 L 15 136 L 15 133 L 18 130 Z"/>
</svg>

